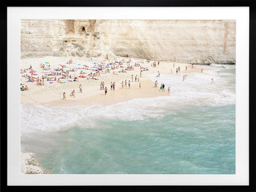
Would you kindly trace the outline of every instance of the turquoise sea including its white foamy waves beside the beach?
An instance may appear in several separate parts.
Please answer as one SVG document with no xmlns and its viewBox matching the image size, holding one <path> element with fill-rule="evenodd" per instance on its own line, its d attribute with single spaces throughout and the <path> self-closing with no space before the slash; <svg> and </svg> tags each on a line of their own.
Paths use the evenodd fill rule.
<svg viewBox="0 0 256 192">
<path fill-rule="evenodd" d="M 207 70 L 182 85 L 182 74 L 162 76 L 170 97 L 79 106 L 74 116 L 76 106 L 26 103 L 22 151 L 53 174 L 235 174 L 235 66 Z M 34 113 L 61 109 L 60 118 Z"/>
</svg>

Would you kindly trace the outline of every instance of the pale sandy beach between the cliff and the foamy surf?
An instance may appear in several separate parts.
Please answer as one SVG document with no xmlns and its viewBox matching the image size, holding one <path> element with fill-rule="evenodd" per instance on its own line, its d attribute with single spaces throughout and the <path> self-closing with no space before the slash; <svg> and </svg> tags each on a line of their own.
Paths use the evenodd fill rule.
<svg viewBox="0 0 256 192">
<path fill-rule="evenodd" d="M 72 59 L 72 63 L 66 63 Z M 103 62 L 104 61 L 104 62 Z M 102 62 L 105 63 L 103 66 L 107 66 L 107 64 L 113 63 L 114 60 L 106 60 L 104 58 L 78 58 L 78 57 L 44 57 L 44 58 L 26 58 L 21 60 L 21 72 L 20 73 L 20 84 L 22 86 L 28 86 L 29 90 L 21 91 L 21 103 L 24 102 L 33 102 L 38 104 L 60 104 L 60 103 L 86 103 L 93 104 L 99 103 L 101 105 L 111 105 L 119 102 L 126 102 L 127 100 L 132 100 L 133 98 L 153 98 L 158 96 L 168 96 L 167 88 L 166 92 L 159 91 L 158 88 L 154 88 L 154 82 L 150 80 L 150 76 L 157 76 L 158 71 L 161 74 L 171 74 L 176 73 L 176 69 L 180 66 L 179 73 L 190 73 L 190 72 L 201 72 L 201 69 L 194 66 L 191 67 L 191 64 L 188 63 L 177 63 L 172 61 L 160 61 L 158 65 L 158 61 L 150 61 L 149 63 L 142 58 L 127 58 L 127 57 L 118 57 L 116 61 L 122 61 L 122 65 L 114 65 L 118 66 L 118 68 L 111 70 L 108 65 L 109 72 L 105 73 L 105 69 L 103 67 L 102 73 L 100 76 L 95 76 L 95 79 L 90 79 L 87 74 L 95 73 L 94 66 L 100 65 Z M 131 62 L 129 62 L 131 61 Z M 156 62 L 156 67 L 153 67 L 151 64 Z M 40 64 L 49 65 L 49 70 L 43 70 L 40 67 Z M 49 63 L 49 64 L 48 64 Z M 95 63 L 95 64 L 94 64 Z M 142 66 L 142 77 L 140 78 L 140 66 L 134 66 L 137 63 Z M 118 64 L 118 63 L 116 63 Z M 44 76 L 44 85 L 38 86 L 36 81 L 27 82 L 28 78 L 25 75 L 30 76 L 30 65 L 33 68 L 35 73 L 33 74 L 34 78 L 41 78 Z M 60 79 L 60 82 L 57 82 L 57 79 L 62 75 L 56 76 L 56 81 L 54 81 L 55 76 L 49 76 L 50 71 L 54 72 L 56 69 L 62 70 L 62 66 L 65 65 L 70 70 L 69 76 L 71 78 Z M 84 65 L 89 66 L 89 68 Z M 122 69 L 127 66 L 134 66 L 134 70 L 126 70 L 126 73 L 119 73 Z M 187 71 L 185 68 L 187 66 Z M 26 69 L 26 72 L 24 72 Z M 84 72 L 84 76 L 86 78 L 79 78 L 81 74 L 81 69 L 86 70 Z M 143 70 L 144 69 L 144 70 Z M 148 69 L 148 70 L 146 70 Z M 66 71 L 66 70 L 65 70 Z M 114 73 L 116 74 L 113 74 Z M 61 72 L 61 71 L 57 71 Z M 86 74 L 86 75 L 85 75 Z M 134 79 L 132 81 L 132 75 Z M 135 76 L 138 76 L 139 82 L 135 82 Z M 77 77 L 77 81 L 74 81 L 74 77 Z M 49 79 L 47 81 L 47 79 Z M 131 82 L 130 89 L 129 87 L 124 87 L 122 89 L 121 82 L 127 80 Z M 100 90 L 100 82 L 105 83 L 105 87 L 107 87 L 108 92 L 105 95 L 104 90 Z M 181 79 L 182 81 L 182 79 Z M 116 82 L 116 89 L 111 90 L 110 83 Z M 141 88 L 139 87 L 139 83 L 141 84 Z M 79 91 L 79 85 L 82 86 L 82 93 Z M 70 93 L 72 90 L 75 90 L 75 98 L 70 97 Z M 63 92 L 66 93 L 66 100 L 63 100 Z"/>
</svg>

